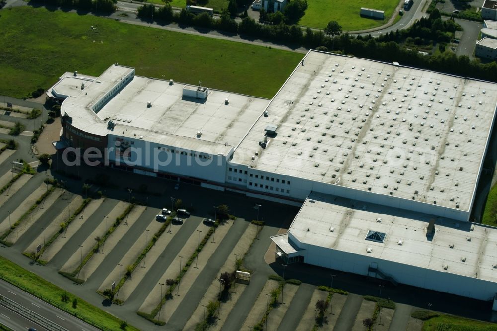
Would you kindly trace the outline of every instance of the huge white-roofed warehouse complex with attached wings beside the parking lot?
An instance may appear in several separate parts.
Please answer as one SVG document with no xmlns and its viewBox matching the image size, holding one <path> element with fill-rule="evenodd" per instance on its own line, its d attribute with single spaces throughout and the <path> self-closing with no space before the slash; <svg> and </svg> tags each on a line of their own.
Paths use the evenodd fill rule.
<svg viewBox="0 0 497 331">
<path fill-rule="evenodd" d="M 484 300 L 497 292 L 496 229 L 467 222 L 497 84 L 318 51 L 272 100 L 120 65 L 75 91 L 74 75 L 49 91 L 68 90 L 60 143 L 128 171 L 305 201 L 273 237 L 285 261 Z"/>
</svg>

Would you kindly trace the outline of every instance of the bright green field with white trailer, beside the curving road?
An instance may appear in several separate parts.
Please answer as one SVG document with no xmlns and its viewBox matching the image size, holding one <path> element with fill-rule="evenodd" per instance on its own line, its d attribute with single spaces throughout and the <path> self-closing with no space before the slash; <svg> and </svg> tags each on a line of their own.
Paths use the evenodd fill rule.
<svg viewBox="0 0 497 331">
<path fill-rule="evenodd" d="M 343 31 L 374 28 L 388 22 L 399 0 L 308 0 L 309 7 L 299 24 L 324 28 L 329 21 L 337 21 Z M 361 7 L 385 11 L 384 20 L 362 18 Z"/>
</svg>

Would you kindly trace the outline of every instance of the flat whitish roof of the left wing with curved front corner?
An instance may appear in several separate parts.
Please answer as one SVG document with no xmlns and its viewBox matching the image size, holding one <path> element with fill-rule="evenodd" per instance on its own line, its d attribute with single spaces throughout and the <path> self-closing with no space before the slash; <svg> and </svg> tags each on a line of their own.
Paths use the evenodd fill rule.
<svg viewBox="0 0 497 331">
<path fill-rule="evenodd" d="M 183 97 L 185 86 L 195 90 L 197 86 L 134 76 L 95 114 L 90 107 L 131 71 L 133 68 L 112 65 L 76 97 L 66 99 L 63 110 L 73 118 L 73 126 L 99 136 L 143 137 L 177 148 L 227 155 L 269 102 L 213 89 L 208 89 L 207 99 Z M 110 120 L 116 124 L 113 131 L 107 125 Z"/>
</svg>

